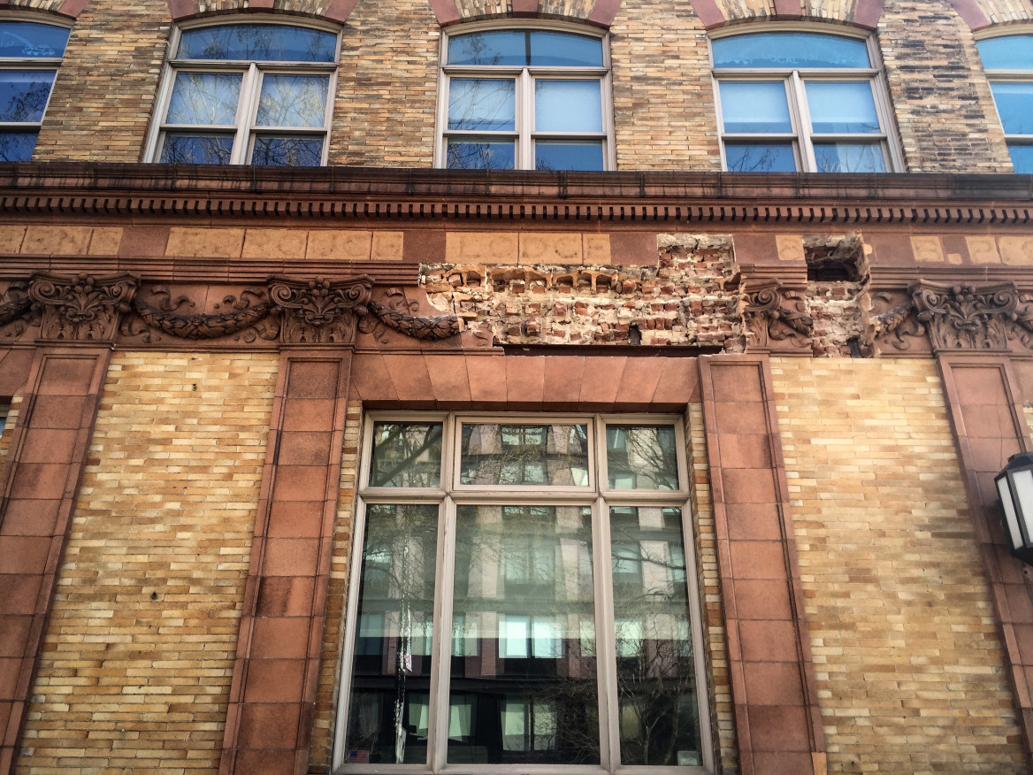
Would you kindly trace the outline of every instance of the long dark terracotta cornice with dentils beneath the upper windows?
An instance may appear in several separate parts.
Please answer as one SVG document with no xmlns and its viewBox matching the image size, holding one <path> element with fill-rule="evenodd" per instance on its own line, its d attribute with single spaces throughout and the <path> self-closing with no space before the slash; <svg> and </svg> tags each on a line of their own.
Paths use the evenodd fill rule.
<svg viewBox="0 0 1033 775">
<path fill-rule="evenodd" d="M 1033 224 L 1029 175 L 0 164 L 8 215 L 658 224 Z"/>
</svg>

